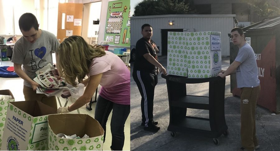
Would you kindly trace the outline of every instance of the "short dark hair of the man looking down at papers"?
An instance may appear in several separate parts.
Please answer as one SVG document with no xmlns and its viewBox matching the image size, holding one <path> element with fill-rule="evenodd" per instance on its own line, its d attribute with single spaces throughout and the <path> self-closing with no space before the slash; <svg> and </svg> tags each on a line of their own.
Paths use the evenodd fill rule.
<svg viewBox="0 0 280 151">
<path fill-rule="evenodd" d="M 34 27 L 36 31 L 39 30 L 37 18 L 35 17 L 35 15 L 29 12 L 21 15 L 18 20 L 18 25 L 20 27 L 20 30 L 23 31 L 29 31 L 32 27 Z"/>
</svg>

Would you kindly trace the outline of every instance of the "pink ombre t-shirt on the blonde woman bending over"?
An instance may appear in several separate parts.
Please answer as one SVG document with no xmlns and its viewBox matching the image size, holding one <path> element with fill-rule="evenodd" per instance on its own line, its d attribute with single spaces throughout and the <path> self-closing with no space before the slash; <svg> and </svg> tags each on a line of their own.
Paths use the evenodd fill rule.
<svg viewBox="0 0 280 151">
<path fill-rule="evenodd" d="M 130 71 L 117 55 L 105 51 L 91 61 L 89 76 L 102 74 L 99 95 L 117 104 L 130 105 Z"/>
</svg>

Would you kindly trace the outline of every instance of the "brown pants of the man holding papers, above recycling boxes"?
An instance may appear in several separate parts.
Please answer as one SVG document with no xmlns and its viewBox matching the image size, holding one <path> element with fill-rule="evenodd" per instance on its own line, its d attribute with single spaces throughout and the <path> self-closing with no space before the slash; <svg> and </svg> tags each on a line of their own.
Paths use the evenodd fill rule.
<svg viewBox="0 0 280 151">
<path fill-rule="evenodd" d="M 55 96 L 47 97 L 44 94 L 37 94 L 36 91 L 33 91 L 32 88 L 23 86 L 23 94 L 25 100 L 37 100 L 40 101 L 48 106 L 51 106 L 57 109 L 57 103 Z"/>
</svg>

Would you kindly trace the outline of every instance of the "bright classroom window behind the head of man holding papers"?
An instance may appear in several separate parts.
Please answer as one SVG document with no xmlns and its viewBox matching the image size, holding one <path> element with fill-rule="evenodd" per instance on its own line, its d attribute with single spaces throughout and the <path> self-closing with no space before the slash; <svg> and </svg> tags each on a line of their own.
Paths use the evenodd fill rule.
<svg viewBox="0 0 280 151">
<path fill-rule="evenodd" d="M 34 14 L 39 28 L 57 35 L 59 0 L 0 0 L 0 35 L 21 35 L 18 20 L 22 14 Z"/>
</svg>

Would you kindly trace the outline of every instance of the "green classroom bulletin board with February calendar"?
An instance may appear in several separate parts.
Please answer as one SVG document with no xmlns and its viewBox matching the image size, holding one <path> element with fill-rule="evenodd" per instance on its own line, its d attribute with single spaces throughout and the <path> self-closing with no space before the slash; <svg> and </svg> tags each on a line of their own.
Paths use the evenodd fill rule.
<svg viewBox="0 0 280 151">
<path fill-rule="evenodd" d="M 112 46 L 130 47 L 130 0 L 109 2 L 104 40 Z"/>
</svg>

